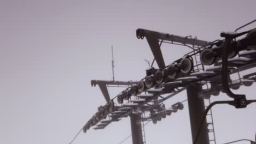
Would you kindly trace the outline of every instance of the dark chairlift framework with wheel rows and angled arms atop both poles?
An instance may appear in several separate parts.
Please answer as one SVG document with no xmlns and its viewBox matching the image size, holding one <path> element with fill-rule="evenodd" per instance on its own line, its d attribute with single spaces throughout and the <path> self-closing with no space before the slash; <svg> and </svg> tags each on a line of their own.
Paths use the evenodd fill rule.
<svg viewBox="0 0 256 144">
<path fill-rule="evenodd" d="M 256 80 L 256 73 L 242 77 L 240 74 L 240 71 L 256 67 L 256 28 L 241 33 L 222 33 L 223 40 L 212 42 L 141 28 L 137 29 L 136 36 L 138 39 L 147 39 L 159 68 L 150 67 L 146 70 L 146 76 L 139 81 L 92 80 L 91 85 L 101 88 L 107 104 L 98 107 L 95 115 L 85 124 L 84 133 L 95 125 L 94 129 L 104 129 L 108 124 L 133 114 L 148 113 L 148 117 L 141 118 L 142 121 L 161 121 L 161 118 L 184 107 L 182 103 L 176 103 L 166 109 L 163 102 L 193 85 L 207 86 L 198 92 L 201 98 L 209 99 L 211 95 L 225 92 L 234 98 L 234 103 L 229 104 L 237 108 L 246 107 L 252 102 L 246 100 L 245 95 L 232 93 L 229 88 L 251 86 Z M 165 65 L 160 49 L 163 43 L 187 46 L 192 51 Z M 231 74 L 238 74 L 239 79 L 231 80 Z M 110 99 L 107 85 L 127 87 Z"/>
</svg>

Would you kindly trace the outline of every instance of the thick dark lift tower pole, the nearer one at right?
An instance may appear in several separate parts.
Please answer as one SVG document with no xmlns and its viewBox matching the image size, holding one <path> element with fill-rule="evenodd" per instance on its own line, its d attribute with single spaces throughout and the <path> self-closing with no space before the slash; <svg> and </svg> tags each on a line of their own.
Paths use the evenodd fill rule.
<svg viewBox="0 0 256 144">
<path fill-rule="evenodd" d="M 192 140 L 194 141 L 196 138 L 196 133 L 199 129 L 203 112 L 205 112 L 205 101 L 203 98 L 198 96 L 198 93 L 202 91 L 202 86 L 200 83 L 196 83 L 195 85 L 190 85 L 187 87 L 187 95 L 188 95 L 188 108 L 189 108 L 189 117 L 190 117 L 190 126 L 191 126 L 191 134 Z M 197 139 L 197 144 L 209 144 L 209 135 L 207 122 L 203 122 L 203 126 L 201 128 L 199 137 Z"/>
</svg>

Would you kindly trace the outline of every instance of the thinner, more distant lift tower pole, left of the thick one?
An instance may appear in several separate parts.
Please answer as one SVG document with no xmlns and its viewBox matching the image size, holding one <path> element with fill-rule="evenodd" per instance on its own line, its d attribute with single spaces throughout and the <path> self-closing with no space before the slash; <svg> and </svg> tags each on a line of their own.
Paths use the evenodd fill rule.
<svg viewBox="0 0 256 144">
<path fill-rule="evenodd" d="M 131 133 L 132 133 L 132 144 L 143 144 L 142 137 L 142 125 L 141 125 L 141 115 L 131 114 Z"/>
</svg>

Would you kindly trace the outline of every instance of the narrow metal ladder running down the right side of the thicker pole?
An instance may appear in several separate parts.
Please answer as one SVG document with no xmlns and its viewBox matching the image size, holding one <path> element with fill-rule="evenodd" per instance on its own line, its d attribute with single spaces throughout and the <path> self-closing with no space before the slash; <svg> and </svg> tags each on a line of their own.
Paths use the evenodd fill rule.
<svg viewBox="0 0 256 144">
<path fill-rule="evenodd" d="M 211 104 L 211 100 L 205 99 L 205 108 L 208 107 L 208 105 Z M 208 103 L 208 104 L 207 104 Z M 214 131 L 214 124 L 213 124 L 213 115 L 212 115 L 212 109 L 208 112 L 206 115 L 206 122 L 207 122 L 207 128 L 208 128 L 208 135 L 209 135 L 209 143 L 210 144 L 216 144 L 216 137 L 215 137 L 215 131 Z"/>
</svg>

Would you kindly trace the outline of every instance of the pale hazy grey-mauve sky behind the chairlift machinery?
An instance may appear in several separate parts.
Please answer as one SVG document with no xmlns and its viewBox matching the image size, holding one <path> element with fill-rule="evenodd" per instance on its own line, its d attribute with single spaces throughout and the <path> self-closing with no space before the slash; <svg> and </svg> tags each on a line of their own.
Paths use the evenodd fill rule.
<svg viewBox="0 0 256 144">
<path fill-rule="evenodd" d="M 256 18 L 256 1 L 0 1 L 0 143 L 69 143 L 105 104 L 92 79 L 139 80 L 153 60 L 137 28 L 220 39 Z M 255 27 L 255 24 L 253 25 Z M 190 50 L 163 45 L 166 64 Z M 256 99 L 256 85 L 242 87 Z M 122 89 L 110 88 L 113 98 Z M 166 101 L 167 106 L 186 93 Z M 213 100 L 229 99 L 221 93 Z M 192 143 L 187 103 L 183 111 L 146 126 L 147 143 Z M 256 104 L 213 108 L 217 143 L 254 139 Z M 81 133 L 73 143 L 119 143 L 130 119 Z M 124 143 L 131 143 L 131 139 Z M 241 142 L 242 143 L 242 142 Z M 248 143 L 248 142 L 243 142 Z"/>
</svg>

